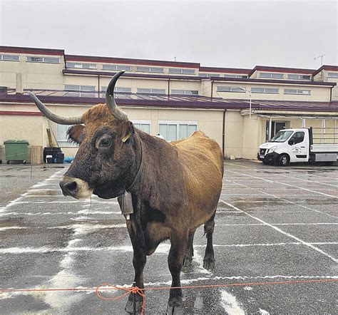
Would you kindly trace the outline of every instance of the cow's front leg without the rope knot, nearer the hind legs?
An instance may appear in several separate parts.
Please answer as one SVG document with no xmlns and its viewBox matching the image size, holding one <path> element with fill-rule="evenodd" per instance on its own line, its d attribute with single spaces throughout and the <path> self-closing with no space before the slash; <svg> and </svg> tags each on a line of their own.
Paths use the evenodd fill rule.
<svg viewBox="0 0 338 315">
<path fill-rule="evenodd" d="M 180 271 L 183 264 L 183 256 L 187 247 L 188 233 L 184 235 L 172 234 L 171 247 L 168 256 L 168 265 L 173 281 L 171 287 L 180 286 Z M 170 289 L 167 314 L 183 314 L 182 289 Z"/>
</svg>

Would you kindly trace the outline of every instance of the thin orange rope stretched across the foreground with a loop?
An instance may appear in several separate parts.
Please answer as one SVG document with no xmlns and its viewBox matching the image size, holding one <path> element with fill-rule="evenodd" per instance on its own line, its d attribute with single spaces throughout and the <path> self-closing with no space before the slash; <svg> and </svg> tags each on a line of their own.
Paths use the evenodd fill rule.
<svg viewBox="0 0 338 315">
<path fill-rule="evenodd" d="M 230 283 L 230 284 L 205 284 L 199 286 L 160 286 L 160 287 L 150 287 L 145 289 L 140 289 L 138 286 L 133 286 L 130 288 L 124 288 L 123 286 L 115 286 L 113 284 L 100 284 L 99 286 L 94 288 L 66 288 L 66 289 L 0 289 L 1 292 L 32 292 L 32 291 L 96 291 L 96 295 L 98 298 L 106 300 L 106 301 L 114 301 L 117 299 L 121 299 L 123 296 L 126 296 L 130 293 L 138 294 L 142 297 L 142 311 L 144 312 L 145 308 L 145 295 L 143 291 L 151 291 L 151 290 L 170 290 L 170 289 L 203 289 L 203 288 L 221 288 L 228 286 L 259 286 L 259 285 L 267 285 L 267 284 L 302 284 L 302 283 L 320 283 L 320 282 L 337 282 L 338 279 L 311 279 L 311 280 L 288 280 L 288 281 L 276 281 L 276 282 L 248 282 L 248 283 Z M 102 287 L 108 286 L 108 287 Z M 125 293 L 116 296 L 116 297 L 104 297 L 101 296 L 99 291 L 102 290 L 123 290 Z"/>
</svg>

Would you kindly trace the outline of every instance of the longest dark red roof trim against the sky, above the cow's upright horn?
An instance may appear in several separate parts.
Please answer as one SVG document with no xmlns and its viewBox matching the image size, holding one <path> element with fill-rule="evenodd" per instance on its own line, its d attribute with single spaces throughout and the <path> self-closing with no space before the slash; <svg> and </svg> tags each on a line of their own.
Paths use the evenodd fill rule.
<svg viewBox="0 0 338 315">
<path fill-rule="evenodd" d="M 131 64 L 131 65 L 145 65 L 145 66 L 165 66 L 165 67 L 196 68 L 196 69 L 200 68 L 200 63 L 162 61 L 162 60 L 150 60 L 150 59 L 66 55 L 66 60 L 67 61 L 99 62 L 99 63 L 124 63 L 128 65 Z"/>
</svg>

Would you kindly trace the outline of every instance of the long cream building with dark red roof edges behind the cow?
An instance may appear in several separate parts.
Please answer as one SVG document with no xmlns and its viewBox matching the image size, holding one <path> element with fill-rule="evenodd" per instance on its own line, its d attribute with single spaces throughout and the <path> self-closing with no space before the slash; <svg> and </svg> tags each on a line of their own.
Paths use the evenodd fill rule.
<svg viewBox="0 0 338 315">
<path fill-rule="evenodd" d="M 59 115 L 80 115 L 104 103 L 117 71 L 126 71 L 116 85 L 117 103 L 137 128 L 168 141 L 202 130 L 226 158 L 256 158 L 258 146 L 282 128 L 338 128 L 338 66 L 214 68 L 0 46 L 0 145 L 26 139 L 46 147 L 48 128 L 65 155 L 75 155 L 68 126 L 46 120 L 26 91 Z"/>
</svg>

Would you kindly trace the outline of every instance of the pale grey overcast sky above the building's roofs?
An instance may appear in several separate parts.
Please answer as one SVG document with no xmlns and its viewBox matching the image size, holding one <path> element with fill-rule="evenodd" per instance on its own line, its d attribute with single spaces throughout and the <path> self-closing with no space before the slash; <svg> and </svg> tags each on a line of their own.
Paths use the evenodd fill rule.
<svg viewBox="0 0 338 315">
<path fill-rule="evenodd" d="M 0 45 L 68 54 L 319 68 L 338 61 L 337 1 L 0 0 Z"/>
</svg>

